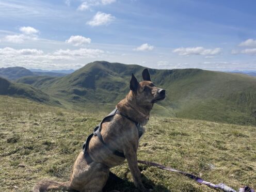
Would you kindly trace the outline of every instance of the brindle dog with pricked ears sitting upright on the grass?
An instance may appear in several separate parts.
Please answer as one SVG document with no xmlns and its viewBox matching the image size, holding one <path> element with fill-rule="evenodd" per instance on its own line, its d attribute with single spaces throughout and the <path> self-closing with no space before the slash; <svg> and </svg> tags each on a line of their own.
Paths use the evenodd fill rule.
<svg viewBox="0 0 256 192">
<path fill-rule="evenodd" d="M 92 159 L 91 162 L 87 162 L 84 152 L 79 153 L 68 182 L 42 180 L 33 187 L 34 192 L 49 189 L 81 192 L 102 191 L 108 179 L 109 169 L 123 163 L 125 158 L 135 186 L 140 191 L 148 191 L 141 182 L 138 168 L 139 134 L 134 122 L 138 122 L 142 127 L 142 132 L 145 133 L 143 126 L 149 121 L 150 111 L 154 103 L 164 100 L 166 93 L 164 89 L 155 87 L 151 82 L 148 69 L 143 70 L 142 79 L 143 81 L 139 83 L 132 74 L 130 92 L 116 105 L 122 115 L 111 116 L 101 125 L 101 135 L 104 142 L 111 149 L 123 153 L 124 156 L 115 155 L 103 145 L 99 137 L 92 136 L 87 149 L 87 153 Z"/>
</svg>

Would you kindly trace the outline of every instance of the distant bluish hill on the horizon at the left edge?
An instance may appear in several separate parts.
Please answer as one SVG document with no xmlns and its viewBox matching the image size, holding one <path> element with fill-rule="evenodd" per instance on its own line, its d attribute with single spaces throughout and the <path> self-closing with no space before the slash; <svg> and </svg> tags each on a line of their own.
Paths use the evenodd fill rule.
<svg viewBox="0 0 256 192">
<path fill-rule="evenodd" d="M 10 81 L 17 80 L 24 76 L 65 76 L 65 73 L 57 73 L 57 72 L 31 72 L 30 70 L 23 67 L 8 67 L 8 68 L 0 68 L 0 77 L 6 78 Z"/>
</svg>

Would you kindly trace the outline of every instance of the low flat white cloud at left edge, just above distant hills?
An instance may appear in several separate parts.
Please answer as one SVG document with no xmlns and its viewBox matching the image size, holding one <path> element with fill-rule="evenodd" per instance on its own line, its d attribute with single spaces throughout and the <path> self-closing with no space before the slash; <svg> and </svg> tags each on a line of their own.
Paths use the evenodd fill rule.
<svg viewBox="0 0 256 192">
<path fill-rule="evenodd" d="M 20 50 L 15 50 L 12 49 L 11 47 L 5 47 L 3 49 L 0 49 L 0 55 L 11 55 L 11 56 L 17 56 L 17 55 L 42 55 L 43 51 L 42 50 L 37 50 L 37 49 L 20 49 Z"/>
</svg>

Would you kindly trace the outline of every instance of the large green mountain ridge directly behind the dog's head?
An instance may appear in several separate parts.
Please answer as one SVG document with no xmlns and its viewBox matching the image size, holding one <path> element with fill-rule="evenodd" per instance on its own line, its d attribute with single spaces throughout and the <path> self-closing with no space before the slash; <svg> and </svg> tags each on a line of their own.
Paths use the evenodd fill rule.
<svg viewBox="0 0 256 192">
<path fill-rule="evenodd" d="M 95 61 L 67 76 L 43 79 L 42 83 L 35 79 L 30 84 L 67 108 L 109 111 L 129 92 L 131 74 L 141 81 L 143 69 Z M 155 105 L 153 114 L 256 124 L 255 77 L 201 69 L 149 71 L 154 84 L 167 90 L 166 100 Z"/>
</svg>

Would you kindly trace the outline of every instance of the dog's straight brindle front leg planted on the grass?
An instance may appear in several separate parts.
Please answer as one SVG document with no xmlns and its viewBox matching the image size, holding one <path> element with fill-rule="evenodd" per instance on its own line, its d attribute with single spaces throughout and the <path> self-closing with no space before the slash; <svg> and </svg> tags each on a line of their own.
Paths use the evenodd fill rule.
<svg viewBox="0 0 256 192">
<path fill-rule="evenodd" d="M 133 150 L 129 150 L 125 154 L 125 157 L 127 159 L 130 171 L 133 175 L 133 181 L 135 186 L 141 191 L 146 191 L 146 188 L 143 186 L 141 182 L 140 171 L 139 171 L 138 162 L 137 162 L 137 152 Z"/>
</svg>

